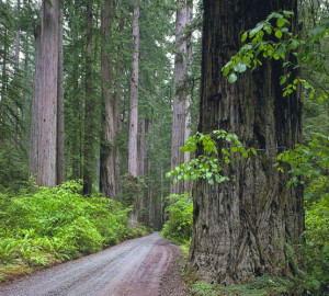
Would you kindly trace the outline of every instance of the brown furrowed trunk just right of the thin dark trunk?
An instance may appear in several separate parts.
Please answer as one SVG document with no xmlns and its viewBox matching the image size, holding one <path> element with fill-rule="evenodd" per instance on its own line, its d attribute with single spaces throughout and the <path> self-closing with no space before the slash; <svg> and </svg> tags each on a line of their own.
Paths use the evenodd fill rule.
<svg viewBox="0 0 329 296">
<path fill-rule="evenodd" d="M 112 65 L 107 45 L 111 42 L 111 1 L 105 1 L 102 12 L 102 140 L 100 159 L 100 190 L 109 198 L 115 200 L 117 193 L 115 182 L 116 147 L 115 136 L 117 121 L 115 117 L 115 96 L 112 95 Z"/>
</svg>

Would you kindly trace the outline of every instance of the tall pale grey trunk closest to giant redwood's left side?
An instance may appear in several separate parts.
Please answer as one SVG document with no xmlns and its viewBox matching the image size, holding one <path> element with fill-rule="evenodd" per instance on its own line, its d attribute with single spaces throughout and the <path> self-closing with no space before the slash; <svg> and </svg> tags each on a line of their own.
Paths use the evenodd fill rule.
<svg viewBox="0 0 329 296">
<path fill-rule="evenodd" d="M 172 116 L 172 139 L 171 139 L 171 169 L 184 162 L 184 155 L 180 148 L 184 145 L 185 137 L 185 92 L 184 78 L 186 75 L 186 42 L 183 30 L 186 26 L 186 1 L 178 0 L 175 19 L 175 47 L 174 56 L 174 96 Z M 173 184 L 171 182 L 170 193 L 182 194 L 184 182 Z"/>
</svg>

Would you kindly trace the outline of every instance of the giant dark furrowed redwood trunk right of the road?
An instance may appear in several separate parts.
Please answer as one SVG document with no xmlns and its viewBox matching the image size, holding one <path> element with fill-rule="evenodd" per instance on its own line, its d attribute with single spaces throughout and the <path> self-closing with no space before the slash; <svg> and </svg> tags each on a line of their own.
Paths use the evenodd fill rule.
<svg viewBox="0 0 329 296">
<path fill-rule="evenodd" d="M 300 140 L 298 94 L 282 96 L 280 61 L 263 61 L 234 84 L 220 72 L 241 46 L 241 31 L 272 11 L 294 10 L 297 15 L 296 7 L 296 0 L 204 0 L 198 130 L 223 128 L 259 149 L 258 156 L 225 168 L 230 181 L 194 185 L 190 264 L 209 282 L 231 284 L 288 272 L 285 242 L 298 242 L 303 231 L 303 192 L 287 189 L 288 177 L 273 167 L 282 147 L 292 149 Z"/>
</svg>

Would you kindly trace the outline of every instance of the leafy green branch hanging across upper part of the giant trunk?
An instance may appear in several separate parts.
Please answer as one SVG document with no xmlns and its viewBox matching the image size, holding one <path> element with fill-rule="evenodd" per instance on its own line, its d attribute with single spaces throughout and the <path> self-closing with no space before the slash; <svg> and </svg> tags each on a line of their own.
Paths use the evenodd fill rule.
<svg viewBox="0 0 329 296">
<path fill-rule="evenodd" d="M 314 99 L 316 93 L 314 84 L 317 84 L 317 101 L 322 103 L 325 100 L 328 100 L 328 89 L 319 87 L 304 65 L 313 62 L 314 67 L 317 66 L 315 68 L 318 70 L 321 68 L 326 72 L 324 64 L 320 67 L 318 67 L 319 62 L 315 65 L 317 58 L 324 59 L 324 53 L 310 50 L 310 47 L 328 34 L 329 21 L 326 19 L 321 20 L 319 25 L 308 36 L 300 38 L 288 30 L 291 25 L 290 19 L 293 14 L 292 11 L 272 12 L 266 20 L 259 22 L 256 27 L 242 33 L 241 42 L 249 41 L 249 43 L 242 45 L 239 52 L 222 69 L 224 76 L 228 76 L 228 82 L 234 83 L 238 79 L 237 75 L 245 72 L 249 68 L 254 70 L 257 67 L 262 66 L 263 58 L 281 59 L 283 60 L 283 67 L 288 69 L 280 80 L 280 84 L 284 87 L 283 96 L 296 91 L 297 84 L 300 83 L 308 92 L 309 99 Z M 295 57 L 296 62 L 286 58 L 290 53 Z M 296 71 L 296 69 L 305 73 L 308 80 L 295 78 L 291 81 L 292 71 Z"/>
</svg>

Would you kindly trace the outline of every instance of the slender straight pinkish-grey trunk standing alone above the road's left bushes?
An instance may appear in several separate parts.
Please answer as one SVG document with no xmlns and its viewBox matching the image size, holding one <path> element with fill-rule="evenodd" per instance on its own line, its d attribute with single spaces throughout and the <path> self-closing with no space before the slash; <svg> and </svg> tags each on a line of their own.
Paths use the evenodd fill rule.
<svg viewBox="0 0 329 296">
<path fill-rule="evenodd" d="M 138 175 L 137 160 L 137 132 L 138 132 L 138 59 L 139 59 L 139 0 L 134 0 L 134 24 L 133 24 L 133 72 L 131 86 L 131 113 L 129 113 L 129 151 L 128 173 Z"/>
</svg>

